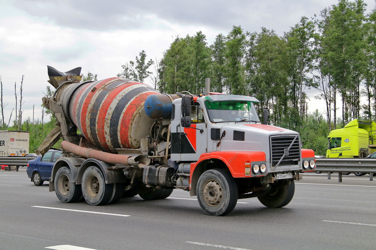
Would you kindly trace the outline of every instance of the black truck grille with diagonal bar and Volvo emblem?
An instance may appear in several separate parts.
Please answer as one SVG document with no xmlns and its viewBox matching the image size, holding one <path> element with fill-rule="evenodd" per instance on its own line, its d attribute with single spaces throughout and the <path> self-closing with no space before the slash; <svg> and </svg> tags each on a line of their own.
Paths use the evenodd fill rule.
<svg viewBox="0 0 376 250">
<path fill-rule="evenodd" d="M 277 166 L 298 165 L 300 161 L 299 136 L 272 136 L 271 165 Z"/>
</svg>

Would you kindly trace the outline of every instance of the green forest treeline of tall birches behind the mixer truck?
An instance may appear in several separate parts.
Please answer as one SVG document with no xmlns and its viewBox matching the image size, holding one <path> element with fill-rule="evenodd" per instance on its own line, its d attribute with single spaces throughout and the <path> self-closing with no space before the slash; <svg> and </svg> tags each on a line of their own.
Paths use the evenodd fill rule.
<svg viewBox="0 0 376 250">
<path fill-rule="evenodd" d="M 255 96 L 259 107 L 269 109 L 270 124 L 300 132 L 304 148 L 324 155 L 330 130 L 355 118 L 376 117 L 376 9 L 366 13 L 365 7 L 362 0 L 339 0 L 320 15 L 303 16 L 282 36 L 264 27 L 244 31 L 240 25 L 218 34 L 211 45 L 202 31 L 177 36 L 161 59 L 147 60 L 141 51 L 118 76 L 150 80 L 170 94 L 204 93 L 205 78 L 211 78 L 211 91 Z M 319 91 L 315 98 L 325 103 L 322 114 L 308 114 L 309 88 Z M 32 151 L 54 123 L 52 117 L 45 124 L 33 119 L 15 127 L 32 131 Z"/>
</svg>

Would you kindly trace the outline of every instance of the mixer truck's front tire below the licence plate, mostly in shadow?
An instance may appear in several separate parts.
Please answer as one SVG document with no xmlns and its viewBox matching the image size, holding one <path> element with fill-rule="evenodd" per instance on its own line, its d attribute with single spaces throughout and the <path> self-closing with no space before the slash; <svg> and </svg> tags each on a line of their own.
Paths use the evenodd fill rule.
<svg viewBox="0 0 376 250">
<path fill-rule="evenodd" d="M 281 208 L 290 203 L 295 193 L 295 183 L 292 181 L 287 186 L 272 189 L 265 196 L 259 196 L 258 199 L 262 205 L 268 208 Z"/>
</svg>

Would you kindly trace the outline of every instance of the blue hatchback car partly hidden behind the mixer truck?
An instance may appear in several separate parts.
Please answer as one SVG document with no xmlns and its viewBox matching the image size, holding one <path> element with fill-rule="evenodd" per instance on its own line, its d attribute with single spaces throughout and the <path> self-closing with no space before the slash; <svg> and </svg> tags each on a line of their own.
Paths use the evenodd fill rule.
<svg viewBox="0 0 376 250">
<path fill-rule="evenodd" d="M 44 181 L 50 179 L 53 165 L 59 157 L 62 157 L 61 151 L 49 150 L 43 157 L 38 156 L 33 160 L 29 160 L 26 173 L 35 186 L 41 186 Z"/>
</svg>

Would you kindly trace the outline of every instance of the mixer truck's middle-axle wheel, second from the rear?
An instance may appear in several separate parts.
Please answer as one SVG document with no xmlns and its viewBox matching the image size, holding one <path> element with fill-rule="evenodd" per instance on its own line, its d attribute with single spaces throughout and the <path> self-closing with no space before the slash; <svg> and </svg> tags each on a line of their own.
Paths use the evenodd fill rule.
<svg viewBox="0 0 376 250">
<path fill-rule="evenodd" d="M 102 172 L 91 166 L 82 175 L 82 194 L 89 205 L 104 205 L 113 198 L 114 186 L 106 184 Z"/>
</svg>

